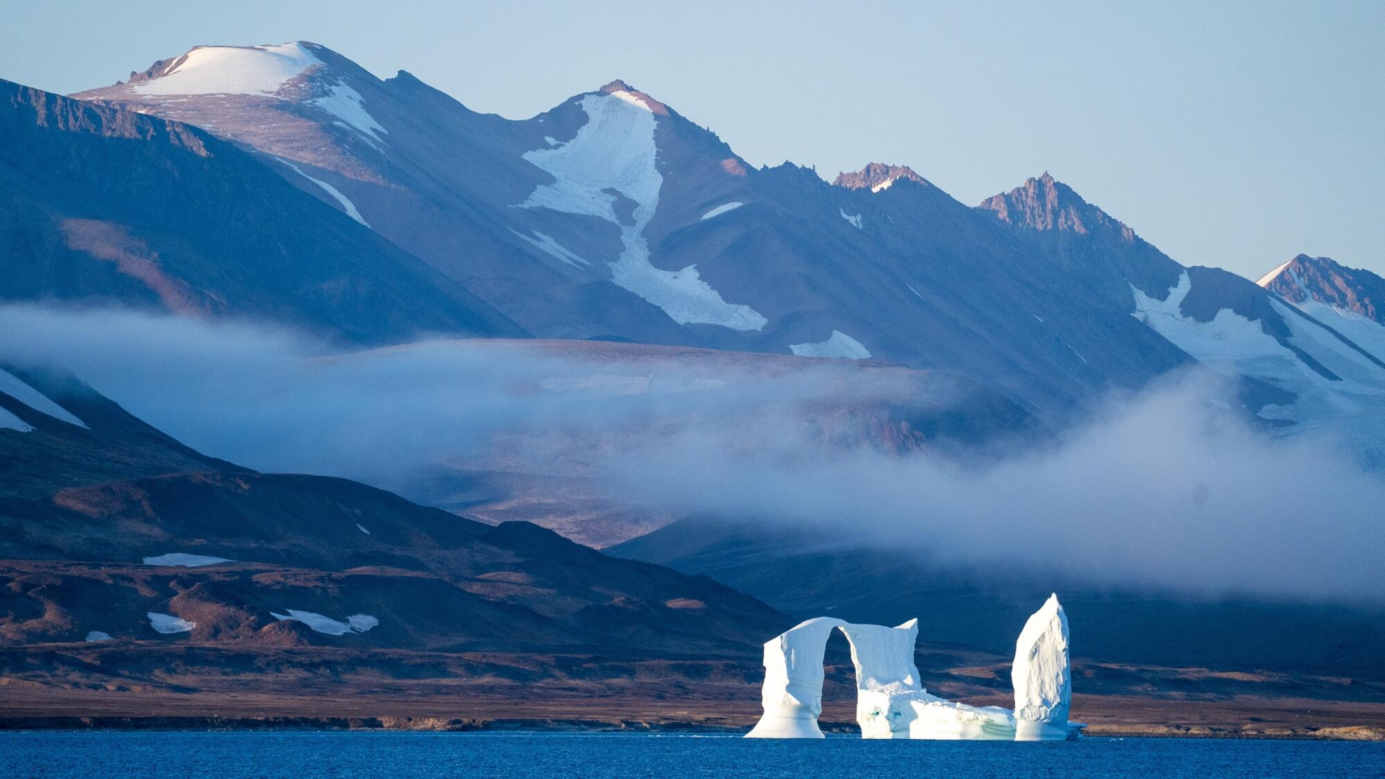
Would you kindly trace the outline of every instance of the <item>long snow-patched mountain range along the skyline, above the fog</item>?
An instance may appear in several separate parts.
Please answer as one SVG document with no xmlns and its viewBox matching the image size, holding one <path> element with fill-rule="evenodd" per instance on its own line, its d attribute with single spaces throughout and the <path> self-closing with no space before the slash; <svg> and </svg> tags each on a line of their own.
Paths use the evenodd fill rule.
<svg viewBox="0 0 1385 779">
<path fill-rule="evenodd" d="M 1183 268 L 1048 175 L 968 208 L 906 166 L 755 169 L 620 80 L 510 121 L 298 42 L 78 97 L 252 148 L 540 337 L 946 369 L 1050 423 L 1194 362 L 1295 430 L 1385 380 L 1334 323 Z"/>
</svg>

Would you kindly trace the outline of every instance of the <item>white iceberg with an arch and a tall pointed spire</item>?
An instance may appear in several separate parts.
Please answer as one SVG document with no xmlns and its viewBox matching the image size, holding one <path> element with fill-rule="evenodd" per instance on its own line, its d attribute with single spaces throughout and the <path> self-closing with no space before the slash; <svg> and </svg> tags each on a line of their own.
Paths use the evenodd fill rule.
<svg viewBox="0 0 1385 779">
<path fill-rule="evenodd" d="M 821 739 L 823 658 L 832 631 L 842 631 L 856 669 L 856 722 L 863 739 L 1071 740 L 1072 672 L 1068 617 L 1051 595 L 1015 642 L 1011 682 L 1015 708 L 975 707 L 929 694 L 914 664 L 918 620 L 889 628 L 817 617 L 765 642 L 765 714 L 749 739 Z"/>
</svg>

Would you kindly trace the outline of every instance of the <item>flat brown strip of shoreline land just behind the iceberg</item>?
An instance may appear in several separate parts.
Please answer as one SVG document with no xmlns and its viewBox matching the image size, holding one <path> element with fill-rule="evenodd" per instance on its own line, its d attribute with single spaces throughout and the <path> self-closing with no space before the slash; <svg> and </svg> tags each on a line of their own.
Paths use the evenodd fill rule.
<svg viewBox="0 0 1385 779">
<path fill-rule="evenodd" d="M 921 645 L 922 682 L 1012 706 L 1008 658 Z M 855 729 L 843 647 L 824 729 Z M 0 649 L 0 729 L 748 729 L 751 658 L 636 660 L 119 642 Z M 1385 737 L 1385 681 L 1076 661 L 1073 718 L 1093 736 Z"/>
</svg>

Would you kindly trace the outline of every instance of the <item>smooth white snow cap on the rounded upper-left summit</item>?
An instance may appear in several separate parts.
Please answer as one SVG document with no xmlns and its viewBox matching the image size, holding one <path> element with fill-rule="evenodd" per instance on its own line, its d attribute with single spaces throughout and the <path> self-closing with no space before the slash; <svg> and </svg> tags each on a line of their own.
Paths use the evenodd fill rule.
<svg viewBox="0 0 1385 779">
<path fill-rule="evenodd" d="M 130 89 L 150 96 L 274 94 L 288 79 L 323 64 L 296 42 L 249 47 L 199 46 L 179 60 L 158 78 Z"/>
</svg>

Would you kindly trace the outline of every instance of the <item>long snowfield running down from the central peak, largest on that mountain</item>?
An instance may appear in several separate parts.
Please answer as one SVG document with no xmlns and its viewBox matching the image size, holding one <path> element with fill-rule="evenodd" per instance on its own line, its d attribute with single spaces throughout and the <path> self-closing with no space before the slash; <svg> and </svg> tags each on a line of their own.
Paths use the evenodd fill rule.
<svg viewBox="0 0 1385 779">
<path fill-rule="evenodd" d="M 555 182 L 540 184 L 522 208 L 548 208 L 564 213 L 598 216 L 620 227 L 620 256 L 611 262 L 611 281 L 659 306 L 680 324 L 720 324 L 733 330 L 759 330 L 769 322 L 747 305 L 729 304 L 704 281 L 697 268 L 662 270 L 650 263 L 644 227 L 659 205 L 663 176 L 655 166 L 656 126 L 650 107 L 626 91 L 589 94 L 580 101 L 587 123 L 576 137 L 555 148 L 528 151 L 524 158 L 550 173 Z M 634 201 L 633 225 L 615 213 L 619 191 Z"/>
</svg>

